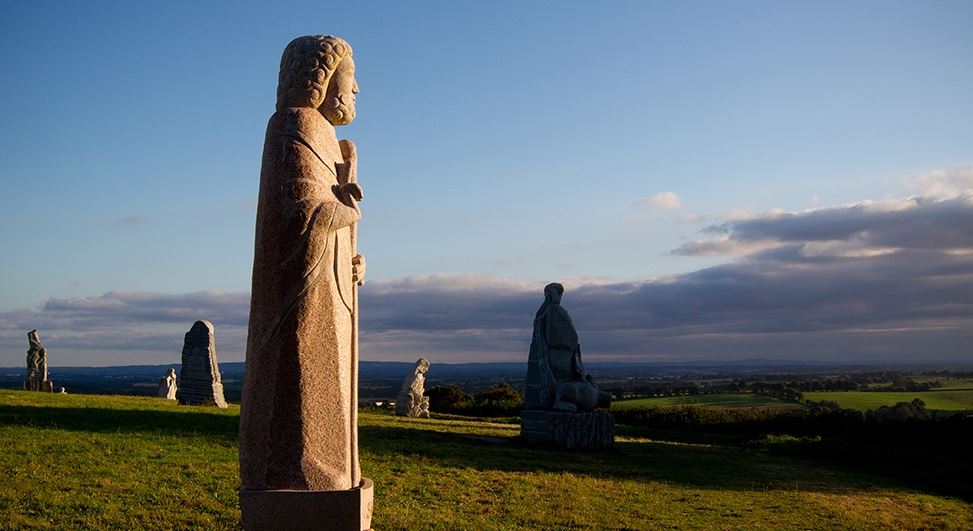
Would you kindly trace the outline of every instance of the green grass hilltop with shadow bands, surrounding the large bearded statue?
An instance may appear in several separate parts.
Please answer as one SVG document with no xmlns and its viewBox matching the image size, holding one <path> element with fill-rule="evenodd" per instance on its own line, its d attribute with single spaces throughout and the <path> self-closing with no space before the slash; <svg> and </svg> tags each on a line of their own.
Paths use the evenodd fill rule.
<svg viewBox="0 0 973 531">
<path fill-rule="evenodd" d="M 237 529 L 239 411 L 0 391 L 0 528 Z M 619 427 L 616 449 L 518 427 L 361 415 L 376 529 L 960 529 L 973 505 L 757 447 Z M 623 436 L 628 433 L 629 436 Z"/>
</svg>

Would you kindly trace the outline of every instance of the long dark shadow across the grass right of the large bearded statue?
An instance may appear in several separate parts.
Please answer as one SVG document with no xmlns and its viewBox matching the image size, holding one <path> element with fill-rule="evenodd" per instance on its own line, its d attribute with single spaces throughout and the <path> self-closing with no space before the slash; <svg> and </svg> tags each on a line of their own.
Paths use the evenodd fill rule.
<svg viewBox="0 0 973 531">
<path fill-rule="evenodd" d="M 916 483 L 873 469 L 734 445 L 639 440 L 616 442 L 609 451 L 579 452 L 526 447 L 519 437 L 469 437 L 428 429 L 361 426 L 359 433 L 363 455 L 373 454 L 380 461 L 407 456 L 446 467 L 566 472 L 701 489 L 853 493 L 906 488 L 973 499 L 968 489 L 957 491 L 955 486 Z"/>
</svg>

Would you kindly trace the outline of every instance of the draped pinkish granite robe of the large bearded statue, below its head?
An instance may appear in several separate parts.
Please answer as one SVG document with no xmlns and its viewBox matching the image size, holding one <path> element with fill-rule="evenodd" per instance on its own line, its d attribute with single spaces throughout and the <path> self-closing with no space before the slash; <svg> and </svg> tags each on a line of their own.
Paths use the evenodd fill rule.
<svg viewBox="0 0 973 531">
<path fill-rule="evenodd" d="M 316 109 L 271 117 L 241 399 L 248 489 L 358 486 L 350 226 L 360 213 L 335 193 L 346 175 L 334 127 Z"/>
</svg>

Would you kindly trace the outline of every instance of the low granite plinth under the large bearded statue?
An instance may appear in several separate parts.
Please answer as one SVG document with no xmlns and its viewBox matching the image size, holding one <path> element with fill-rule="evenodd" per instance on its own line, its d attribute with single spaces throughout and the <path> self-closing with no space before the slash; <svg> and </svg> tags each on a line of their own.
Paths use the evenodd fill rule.
<svg viewBox="0 0 973 531">
<path fill-rule="evenodd" d="M 240 489 L 246 531 L 362 531 L 372 526 L 372 480 L 348 490 Z"/>
</svg>

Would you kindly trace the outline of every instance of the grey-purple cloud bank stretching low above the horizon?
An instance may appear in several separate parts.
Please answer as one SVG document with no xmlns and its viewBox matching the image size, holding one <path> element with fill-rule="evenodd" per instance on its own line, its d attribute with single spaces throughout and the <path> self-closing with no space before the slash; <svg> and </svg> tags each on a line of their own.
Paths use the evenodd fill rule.
<svg viewBox="0 0 973 531">
<path fill-rule="evenodd" d="M 639 282 L 551 278 L 566 287 L 586 358 L 973 360 L 973 172 L 914 180 L 927 195 L 728 216 L 678 255 L 731 262 Z M 429 275 L 361 291 L 366 360 L 526 357 L 545 282 Z M 22 364 L 41 330 L 53 364 L 178 361 L 197 319 L 220 359 L 243 359 L 249 295 L 109 292 L 0 313 L 0 365 Z"/>
</svg>

